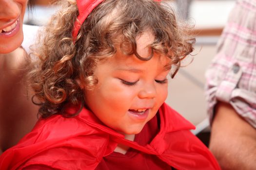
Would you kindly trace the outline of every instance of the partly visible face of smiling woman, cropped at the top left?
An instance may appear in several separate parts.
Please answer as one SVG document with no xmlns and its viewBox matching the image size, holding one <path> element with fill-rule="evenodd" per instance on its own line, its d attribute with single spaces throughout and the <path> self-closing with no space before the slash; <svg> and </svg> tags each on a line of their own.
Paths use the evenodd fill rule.
<svg viewBox="0 0 256 170">
<path fill-rule="evenodd" d="M 27 2 L 28 0 L 0 0 L 0 53 L 9 53 L 20 47 Z"/>
</svg>

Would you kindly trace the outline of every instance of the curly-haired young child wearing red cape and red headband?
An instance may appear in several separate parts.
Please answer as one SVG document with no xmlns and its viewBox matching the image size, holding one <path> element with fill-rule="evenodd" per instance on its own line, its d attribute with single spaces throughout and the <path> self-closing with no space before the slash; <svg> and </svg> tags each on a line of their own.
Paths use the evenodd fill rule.
<svg viewBox="0 0 256 170">
<path fill-rule="evenodd" d="M 158 0 L 61 4 L 31 72 L 41 118 L 0 169 L 219 170 L 164 103 L 171 66 L 194 44 L 172 10 Z"/>
</svg>

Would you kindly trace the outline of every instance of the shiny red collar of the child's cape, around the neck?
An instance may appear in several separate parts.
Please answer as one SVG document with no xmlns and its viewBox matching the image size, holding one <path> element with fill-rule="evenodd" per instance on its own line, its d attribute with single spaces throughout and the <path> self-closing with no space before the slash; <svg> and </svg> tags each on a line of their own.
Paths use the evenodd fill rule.
<svg viewBox="0 0 256 170">
<path fill-rule="evenodd" d="M 126 140 L 122 134 L 119 134 L 113 129 L 103 125 L 102 122 L 86 108 L 83 108 L 81 110 L 81 112 L 77 116 L 77 119 L 80 119 L 81 121 L 90 125 L 92 128 L 96 128 L 100 131 L 110 134 L 112 136 L 112 139 L 117 143 L 122 143 L 144 153 L 161 154 L 165 151 L 163 138 L 166 133 L 176 132 L 180 130 L 191 130 L 195 129 L 195 126 L 191 124 L 188 120 L 180 116 L 166 103 L 163 103 L 161 105 L 158 113 L 160 117 L 160 131 L 157 136 L 155 136 L 155 138 L 151 141 L 151 143 L 146 146 L 140 146 L 137 142 Z M 157 150 L 152 149 L 155 148 L 154 146 L 159 146 L 159 144 L 163 147 L 158 147 Z"/>
</svg>

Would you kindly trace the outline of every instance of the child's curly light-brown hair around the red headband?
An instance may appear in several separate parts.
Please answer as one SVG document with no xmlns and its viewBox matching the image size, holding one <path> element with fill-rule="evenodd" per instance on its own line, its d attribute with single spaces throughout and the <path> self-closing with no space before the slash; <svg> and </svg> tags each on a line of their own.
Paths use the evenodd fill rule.
<svg viewBox="0 0 256 170">
<path fill-rule="evenodd" d="M 39 60 L 29 75 L 43 118 L 65 115 L 66 104 L 82 102 L 83 89 L 97 84 L 94 69 L 98 61 L 114 56 L 117 47 L 141 60 L 151 59 L 154 52 L 171 58 L 170 65 L 176 66 L 172 77 L 181 60 L 194 50 L 191 28 L 178 24 L 174 11 L 164 2 L 104 0 L 85 19 L 75 44 L 76 0 L 62 0 L 59 5 L 60 11 L 41 32 L 34 52 Z M 155 36 L 148 58 L 137 53 L 136 39 L 145 31 Z"/>
</svg>

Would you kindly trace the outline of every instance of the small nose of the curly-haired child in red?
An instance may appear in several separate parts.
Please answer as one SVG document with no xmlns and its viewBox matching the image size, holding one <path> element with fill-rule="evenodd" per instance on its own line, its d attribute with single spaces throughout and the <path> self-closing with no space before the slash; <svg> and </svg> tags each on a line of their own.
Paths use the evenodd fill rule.
<svg viewBox="0 0 256 170">
<path fill-rule="evenodd" d="M 157 89 L 154 83 L 144 85 L 138 93 L 140 99 L 152 99 L 157 95 Z"/>
</svg>

